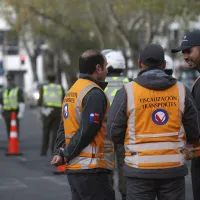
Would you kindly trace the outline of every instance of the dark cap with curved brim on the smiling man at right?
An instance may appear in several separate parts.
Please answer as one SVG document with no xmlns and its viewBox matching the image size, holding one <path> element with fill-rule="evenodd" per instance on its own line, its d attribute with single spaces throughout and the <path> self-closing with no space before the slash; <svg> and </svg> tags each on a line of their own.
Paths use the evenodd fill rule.
<svg viewBox="0 0 200 200">
<path fill-rule="evenodd" d="M 194 46 L 200 46 L 200 31 L 191 31 L 187 35 L 184 36 L 181 46 L 176 49 L 172 49 L 172 53 L 177 53 L 179 51 L 183 51 L 186 49 L 190 49 Z"/>
</svg>

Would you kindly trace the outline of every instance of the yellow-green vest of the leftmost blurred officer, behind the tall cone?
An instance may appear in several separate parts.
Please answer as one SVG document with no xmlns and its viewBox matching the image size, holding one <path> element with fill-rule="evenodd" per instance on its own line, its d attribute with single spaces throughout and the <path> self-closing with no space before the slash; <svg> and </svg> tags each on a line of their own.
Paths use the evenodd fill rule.
<svg viewBox="0 0 200 200">
<path fill-rule="evenodd" d="M 4 110 L 17 110 L 19 106 L 18 102 L 18 88 L 13 88 L 8 92 L 5 89 L 3 92 L 3 109 Z"/>
</svg>

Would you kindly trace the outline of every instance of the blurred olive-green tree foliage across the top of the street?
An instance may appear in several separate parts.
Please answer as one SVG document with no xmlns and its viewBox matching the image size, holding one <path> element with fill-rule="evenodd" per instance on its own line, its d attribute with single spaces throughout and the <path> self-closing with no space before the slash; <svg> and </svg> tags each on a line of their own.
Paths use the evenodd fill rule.
<svg viewBox="0 0 200 200">
<path fill-rule="evenodd" d="M 25 43 L 38 49 L 41 38 L 54 54 L 67 53 L 70 64 L 62 70 L 75 80 L 78 56 L 88 48 L 129 49 L 133 59 L 144 43 L 166 36 L 169 24 L 178 21 L 187 29 L 198 16 L 195 0 L 4 0 L 7 21 Z M 15 13 L 16 19 L 11 18 Z M 35 58 L 37 51 L 30 50 Z M 62 56 L 59 56 L 62 59 Z"/>
</svg>

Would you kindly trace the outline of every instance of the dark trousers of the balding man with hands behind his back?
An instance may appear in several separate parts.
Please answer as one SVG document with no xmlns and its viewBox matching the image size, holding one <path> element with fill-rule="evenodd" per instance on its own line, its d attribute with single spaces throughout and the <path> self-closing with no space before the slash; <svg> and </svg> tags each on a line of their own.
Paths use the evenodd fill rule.
<svg viewBox="0 0 200 200">
<path fill-rule="evenodd" d="M 72 200 L 115 200 L 108 173 L 67 174 Z"/>
</svg>

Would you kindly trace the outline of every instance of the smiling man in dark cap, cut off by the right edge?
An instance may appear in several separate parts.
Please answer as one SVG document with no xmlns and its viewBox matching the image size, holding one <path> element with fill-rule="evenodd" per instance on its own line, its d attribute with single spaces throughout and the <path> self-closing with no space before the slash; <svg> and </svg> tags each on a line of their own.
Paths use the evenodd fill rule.
<svg viewBox="0 0 200 200">
<path fill-rule="evenodd" d="M 200 31 L 191 31 L 184 36 L 181 45 L 172 49 L 172 53 L 182 52 L 189 67 L 200 72 Z M 200 79 L 195 81 L 192 89 L 198 112 L 200 111 Z M 200 199 L 200 157 L 192 159 L 191 162 L 192 187 L 194 200 Z"/>
</svg>

